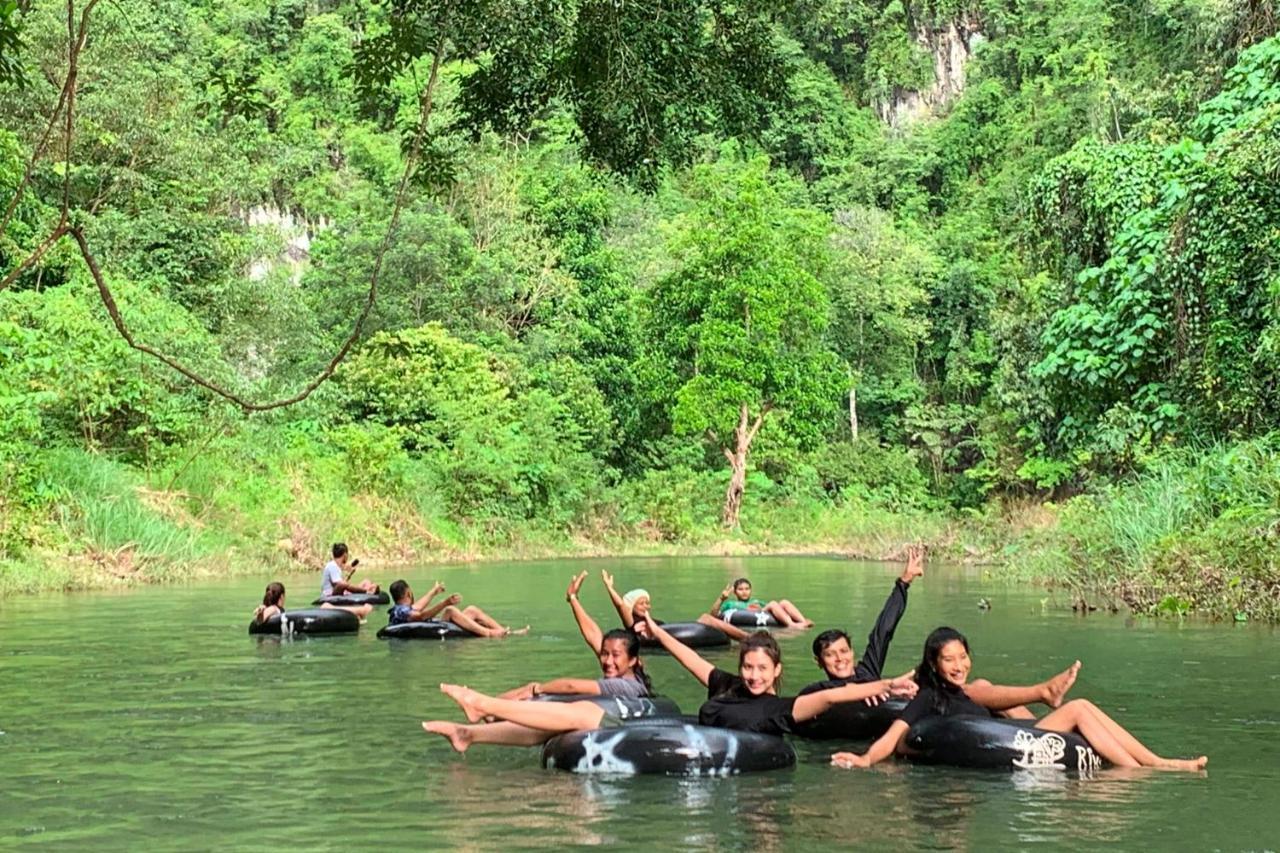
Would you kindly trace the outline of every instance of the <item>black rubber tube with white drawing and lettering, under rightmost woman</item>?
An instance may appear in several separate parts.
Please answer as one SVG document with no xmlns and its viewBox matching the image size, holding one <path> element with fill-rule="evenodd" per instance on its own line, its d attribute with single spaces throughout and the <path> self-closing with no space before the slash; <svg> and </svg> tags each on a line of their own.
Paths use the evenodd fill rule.
<svg viewBox="0 0 1280 853">
<path fill-rule="evenodd" d="M 1032 722 L 965 715 L 925 717 L 906 733 L 904 752 L 911 761 L 955 767 L 1091 774 L 1102 766 L 1101 756 L 1080 735 L 1036 729 Z"/>
</svg>

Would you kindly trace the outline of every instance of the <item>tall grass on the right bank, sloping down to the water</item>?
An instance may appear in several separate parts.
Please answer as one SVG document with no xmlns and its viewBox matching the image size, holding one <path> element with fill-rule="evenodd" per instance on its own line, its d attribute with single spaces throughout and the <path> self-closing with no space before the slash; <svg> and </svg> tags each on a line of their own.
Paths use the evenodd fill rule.
<svg viewBox="0 0 1280 853">
<path fill-rule="evenodd" d="M 1062 507 L 1012 570 L 1147 612 L 1280 619 L 1277 437 L 1169 455 Z"/>
</svg>

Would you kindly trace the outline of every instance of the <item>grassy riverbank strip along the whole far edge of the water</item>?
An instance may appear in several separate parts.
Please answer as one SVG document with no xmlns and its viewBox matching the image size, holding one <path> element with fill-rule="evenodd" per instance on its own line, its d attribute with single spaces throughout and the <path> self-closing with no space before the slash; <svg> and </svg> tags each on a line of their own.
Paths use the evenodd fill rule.
<svg viewBox="0 0 1280 853">
<path fill-rule="evenodd" d="M 26 520 L 29 544 L 0 560 L 0 594 L 300 576 L 324 562 L 334 539 L 348 540 L 374 574 L 556 557 L 897 560 L 906 543 L 923 542 L 936 560 L 980 562 L 993 579 L 1044 585 L 1064 607 L 1280 621 L 1277 460 L 1267 443 L 1236 444 L 1155 462 L 1128 484 L 1060 506 L 1028 501 L 965 515 L 756 489 L 742 529 L 726 533 L 714 517 L 721 487 L 705 478 L 648 503 L 620 489 L 588 520 L 554 526 L 451 519 L 412 489 L 379 496 L 346 488 L 340 469 L 324 459 L 188 464 L 174 478 L 65 451 L 45 460 L 63 489 Z M 5 526 L 13 524 L 6 516 Z"/>
</svg>

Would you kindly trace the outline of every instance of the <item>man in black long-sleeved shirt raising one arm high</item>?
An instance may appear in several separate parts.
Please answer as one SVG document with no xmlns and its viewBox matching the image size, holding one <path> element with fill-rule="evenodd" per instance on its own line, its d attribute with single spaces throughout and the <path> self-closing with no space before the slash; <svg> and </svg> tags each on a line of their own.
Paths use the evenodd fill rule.
<svg viewBox="0 0 1280 853">
<path fill-rule="evenodd" d="M 893 630 L 899 620 L 906 612 L 906 590 L 911 581 L 924 574 L 924 549 L 920 546 L 909 546 L 906 549 L 906 567 L 902 574 L 893 580 L 893 590 L 884 601 L 876 625 L 867 637 L 867 648 L 863 649 L 861 660 L 855 660 L 854 647 L 849 642 L 849 634 L 840 629 L 826 630 L 813 640 L 813 657 L 818 666 L 827 674 L 826 680 L 814 681 L 800 690 L 800 695 L 814 690 L 827 690 L 845 684 L 865 684 L 877 681 L 884 669 L 884 658 L 888 656 L 888 646 L 893 640 Z M 861 703 L 858 703 L 861 704 Z M 858 724 L 846 720 L 851 711 L 859 719 Z M 809 738 L 832 736 L 859 736 L 856 729 L 861 727 L 860 719 L 864 716 L 861 708 L 841 710 L 836 706 L 808 724 L 799 727 L 796 734 Z M 869 722 L 869 721 L 868 721 Z"/>
</svg>

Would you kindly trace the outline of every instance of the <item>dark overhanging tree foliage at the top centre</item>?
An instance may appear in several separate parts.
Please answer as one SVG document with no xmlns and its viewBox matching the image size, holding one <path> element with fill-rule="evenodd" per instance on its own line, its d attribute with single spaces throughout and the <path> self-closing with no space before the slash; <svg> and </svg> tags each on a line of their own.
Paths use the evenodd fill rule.
<svg viewBox="0 0 1280 853">
<path fill-rule="evenodd" d="M 556 104 L 585 152 L 652 182 L 700 133 L 754 133 L 787 95 L 776 0 L 392 0 L 388 29 L 357 51 L 369 86 L 417 58 L 466 58 L 467 123 L 525 133 Z M 443 51 L 443 54 L 442 54 Z"/>
</svg>

